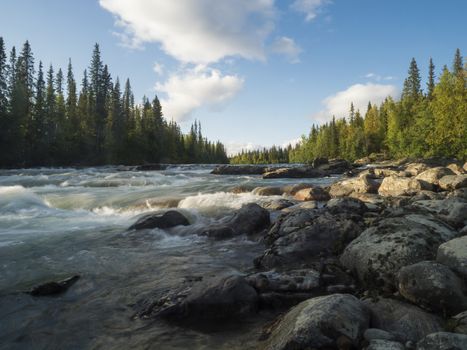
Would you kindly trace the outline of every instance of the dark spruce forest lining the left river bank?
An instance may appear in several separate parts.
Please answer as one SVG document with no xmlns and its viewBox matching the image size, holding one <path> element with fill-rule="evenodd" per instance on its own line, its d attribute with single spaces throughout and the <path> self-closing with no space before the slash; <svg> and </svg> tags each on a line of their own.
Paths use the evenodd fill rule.
<svg viewBox="0 0 467 350">
<path fill-rule="evenodd" d="M 113 79 L 94 46 L 78 91 L 66 72 L 35 65 L 31 45 L 9 56 L 0 37 L 0 166 L 226 163 L 225 147 L 195 121 L 184 134 L 157 96 L 135 103 L 130 80 Z"/>
</svg>

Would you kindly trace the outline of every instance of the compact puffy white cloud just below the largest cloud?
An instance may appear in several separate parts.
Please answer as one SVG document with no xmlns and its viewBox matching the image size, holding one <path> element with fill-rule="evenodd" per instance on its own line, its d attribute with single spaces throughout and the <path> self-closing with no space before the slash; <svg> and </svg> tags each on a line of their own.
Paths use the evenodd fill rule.
<svg viewBox="0 0 467 350">
<path fill-rule="evenodd" d="M 164 115 L 183 121 L 203 106 L 222 107 L 242 87 L 243 78 L 199 65 L 172 74 L 163 84 L 157 84 L 156 90 L 167 95 L 161 99 Z"/>
</svg>

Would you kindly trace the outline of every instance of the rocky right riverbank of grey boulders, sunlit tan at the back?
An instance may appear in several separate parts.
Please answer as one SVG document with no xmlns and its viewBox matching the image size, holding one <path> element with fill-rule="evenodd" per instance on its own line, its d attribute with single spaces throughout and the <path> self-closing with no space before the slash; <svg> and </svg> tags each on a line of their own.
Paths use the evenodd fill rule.
<svg viewBox="0 0 467 350">
<path fill-rule="evenodd" d="M 139 300 L 135 317 L 219 325 L 274 310 L 260 349 L 467 349 L 467 164 L 352 174 L 329 187 L 253 189 L 274 197 L 190 231 L 263 242 L 253 269 L 187 280 Z M 164 216 L 133 229 L 189 227 Z"/>
</svg>

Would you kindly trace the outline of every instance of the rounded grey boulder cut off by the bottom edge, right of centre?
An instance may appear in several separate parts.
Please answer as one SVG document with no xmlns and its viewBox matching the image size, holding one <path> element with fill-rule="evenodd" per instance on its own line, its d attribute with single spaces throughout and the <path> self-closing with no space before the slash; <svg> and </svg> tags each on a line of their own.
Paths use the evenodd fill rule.
<svg viewBox="0 0 467 350">
<path fill-rule="evenodd" d="M 308 299 L 291 309 L 272 329 L 263 349 L 328 349 L 346 341 L 357 347 L 369 325 L 363 303 L 349 294 Z"/>
</svg>

